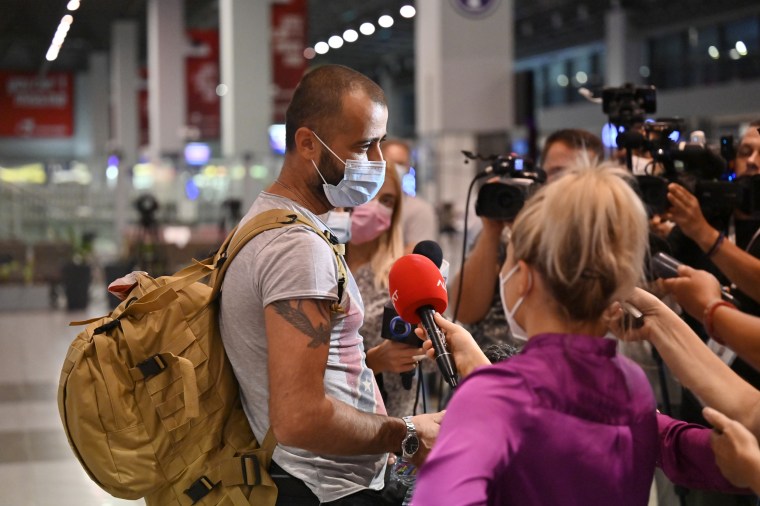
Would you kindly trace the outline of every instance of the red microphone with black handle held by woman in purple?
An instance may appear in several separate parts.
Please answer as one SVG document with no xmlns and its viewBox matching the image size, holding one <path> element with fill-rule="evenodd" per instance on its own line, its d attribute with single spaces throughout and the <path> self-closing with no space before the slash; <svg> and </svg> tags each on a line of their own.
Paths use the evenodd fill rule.
<svg viewBox="0 0 760 506">
<path fill-rule="evenodd" d="M 456 387 L 454 357 L 446 348 L 446 337 L 433 319 L 436 312 L 443 313 L 449 305 L 441 271 L 429 258 L 412 253 L 396 260 L 391 267 L 388 285 L 396 312 L 404 321 L 422 323 L 433 343 L 438 369 L 446 382 Z"/>
</svg>

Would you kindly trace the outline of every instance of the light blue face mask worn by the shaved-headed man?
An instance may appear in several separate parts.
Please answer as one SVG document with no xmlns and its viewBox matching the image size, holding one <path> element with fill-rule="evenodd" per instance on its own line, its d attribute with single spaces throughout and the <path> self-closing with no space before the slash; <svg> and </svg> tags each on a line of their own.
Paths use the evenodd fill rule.
<svg viewBox="0 0 760 506">
<path fill-rule="evenodd" d="M 375 162 L 353 158 L 343 160 L 327 144 L 322 142 L 322 139 L 315 132 L 312 131 L 312 133 L 335 158 L 346 166 L 343 179 L 337 185 L 332 185 L 325 181 L 314 160 L 311 161 L 314 168 L 317 169 L 317 174 L 324 182 L 322 188 L 325 190 L 327 201 L 334 207 L 356 207 L 375 198 L 385 181 L 385 161 Z"/>
</svg>

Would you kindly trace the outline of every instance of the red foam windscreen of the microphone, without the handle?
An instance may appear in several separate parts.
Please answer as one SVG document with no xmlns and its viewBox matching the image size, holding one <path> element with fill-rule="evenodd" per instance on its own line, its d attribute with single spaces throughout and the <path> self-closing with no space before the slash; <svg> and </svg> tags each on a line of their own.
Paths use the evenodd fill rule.
<svg viewBox="0 0 760 506">
<path fill-rule="evenodd" d="M 396 260 L 388 275 L 388 289 L 396 312 L 413 325 L 420 322 L 419 308 L 431 306 L 443 313 L 449 305 L 441 271 L 429 258 L 415 253 Z"/>
</svg>

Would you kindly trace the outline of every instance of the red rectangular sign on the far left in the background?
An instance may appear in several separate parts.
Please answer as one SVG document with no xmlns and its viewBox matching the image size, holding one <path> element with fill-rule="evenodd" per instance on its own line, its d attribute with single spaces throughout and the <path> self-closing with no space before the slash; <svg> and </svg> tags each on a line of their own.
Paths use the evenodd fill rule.
<svg viewBox="0 0 760 506">
<path fill-rule="evenodd" d="M 40 77 L 0 71 L 0 136 L 71 137 L 73 79 L 68 72 Z"/>
</svg>

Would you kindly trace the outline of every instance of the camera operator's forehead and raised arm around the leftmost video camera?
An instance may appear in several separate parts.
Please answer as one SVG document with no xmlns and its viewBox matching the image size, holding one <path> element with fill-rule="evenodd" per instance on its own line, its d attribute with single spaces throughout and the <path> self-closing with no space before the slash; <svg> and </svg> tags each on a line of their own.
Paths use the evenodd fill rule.
<svg viewBox="0 0 760 506">
<path fill-rule="evenodd" d="M 541 153 L 547 183 L 556 180 L 565 168 L 583 157 L 591 164 L 603 159 L 604 149 L 599 137 L 579 129 L 553 132 L 546 139 Z M 483 229 L 465 261 L 465 275 L 458 273 L 449 290 L 457 293 L 460 280 L 464 279 L 457 319 L 468 325 L 481 347 L 506 342 L 519 348 L 524 340 L 514 339 L 511 335 L 496 289 L 499 269 L 506 258 L 509 223 L 486 217 L 481 217 L 481 221 Z"/>
</svg>

